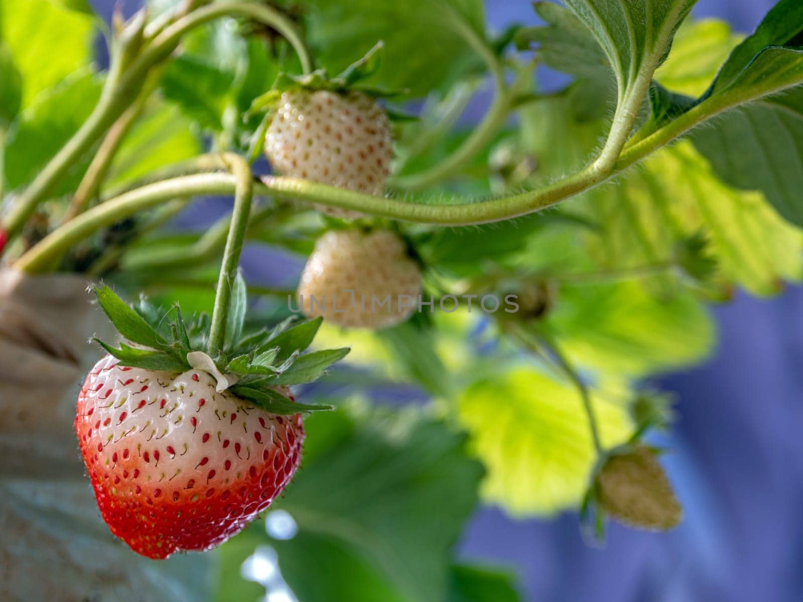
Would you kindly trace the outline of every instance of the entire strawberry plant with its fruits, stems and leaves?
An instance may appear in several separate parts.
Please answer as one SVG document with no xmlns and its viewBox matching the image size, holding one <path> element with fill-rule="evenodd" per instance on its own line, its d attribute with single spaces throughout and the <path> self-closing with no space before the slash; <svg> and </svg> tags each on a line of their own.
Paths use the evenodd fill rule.
<svg viewBox="0 0 803 602">
<path fill-rule="evenodd" d="M 798 0 L 144 4 L 0 3 L 2 599 L 520 600 L 479 504 L 682 524 L 650 378 L 803 279 Z"/>
</svg>

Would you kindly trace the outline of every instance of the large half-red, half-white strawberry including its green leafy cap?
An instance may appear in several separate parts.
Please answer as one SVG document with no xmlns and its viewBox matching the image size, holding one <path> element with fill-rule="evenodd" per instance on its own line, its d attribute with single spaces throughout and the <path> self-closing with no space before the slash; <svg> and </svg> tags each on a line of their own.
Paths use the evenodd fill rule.
<svg viewBox="0 0 803 602">
<path fill-rule="evenodd" d="M 208 319 L 128 307 L 108 287 L 100 306 L 124 339 L 89 372 L 75 433 L 100 513 L 141 555 L 202 551 L 243 529 L 299 466 L 302 413 L 288 386 L 316 380 L 347 350 L 300 356 L 320 319 L 240 340 L 245 285 L 233 287 L 224 348 L 199 351 Z M 154 326 L 157 325 L 157 326 Z M 161 327 L 161 331 L 157 328 Z M 214 357 L 213 357 L 214 355 Z"/>
</svg>

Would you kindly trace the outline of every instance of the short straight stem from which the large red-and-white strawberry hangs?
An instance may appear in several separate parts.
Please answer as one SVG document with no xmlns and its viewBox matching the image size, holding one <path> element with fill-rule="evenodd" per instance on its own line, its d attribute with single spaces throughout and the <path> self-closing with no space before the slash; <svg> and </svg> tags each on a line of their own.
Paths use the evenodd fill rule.
<svg viewBox="0 0 803 602">
<path fill-rule="evenodd" d="M 254 176 L 248 162 L 234 153 L 226 153 L 222 158 L 234 175 L 236 190 L 234 212 L 231 215 L 229 236 L 226 239 L 226 250 L 223 251 L 218 291 L 214 299 L 214 311 L 212 311 L 212 327 L 208 345 L 211 356 L 222 351 L 226 340 L 226 317 L 229 311 L 231 287 L 234 279 L 237 278 L 240 254 L 243 252 L 243 242 L 245 242 L 248 229 L 248 218 L 251 217 L 251 201 L 254 197 Z"/>
</svg>

